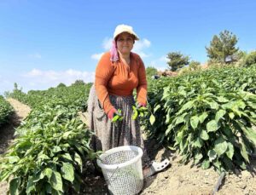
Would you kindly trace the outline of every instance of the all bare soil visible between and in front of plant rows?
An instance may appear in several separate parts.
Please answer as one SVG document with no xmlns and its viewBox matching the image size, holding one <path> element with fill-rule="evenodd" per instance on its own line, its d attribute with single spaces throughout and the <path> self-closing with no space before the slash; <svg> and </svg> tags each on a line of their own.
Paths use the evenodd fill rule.
<svg viewBox="0 0 256 195">
<path fill-rule="evenodd" d="M 7 150 L 7 147 L 14 139 L 15 128 L 21 120 L 26 118 L 30 108 L 20 104 L 17 100 L 10 99 L 9 102 L 15 107 L 15 114 L 11 123 L 0 128 L 0 153 Z M 86 113 L 80 113 L 84 123 L 86 123 Z M 171 165 L 157 175 L 145 181 L 141 195 L 148 194 L 212 194 L 214 186 L 218 182 L 219 175 L 213 169 L 201 169 L 192 166 L 192 163 L 179 163 L 181 157 L 170 150 L 158 146 L 154 140 L 145 139 L 145 146 L 148 156 L 157 162 L 169 158 Z M 256 195 L 256 159 L 251 163 L 251 171 L 236 171 L 234 174 L 225 175 L 222 185 L 215 194 L 255 194 Z M 102 174 L 90 164 L 90 169 L 84 175 L 84 186 L 82 194 L 108 194 L 108 187 L 104 182 Z M 86 187 L 85 187 L 86 186 Z M 0 183 L 0 194 L 6 194 L 8 185 Z"/>
</svg>

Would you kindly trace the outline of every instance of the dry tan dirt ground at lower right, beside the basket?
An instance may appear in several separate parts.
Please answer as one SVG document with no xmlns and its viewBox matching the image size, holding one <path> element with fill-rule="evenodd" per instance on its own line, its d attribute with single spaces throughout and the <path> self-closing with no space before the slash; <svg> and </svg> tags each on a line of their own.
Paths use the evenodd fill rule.
<svg viewBox="0 0 256 195">
<path fill-rule="evenodd" d="M 149 153 L 151 158 L 160 161 L 163 158 L 171 160 L 171 166 L 151 179 L 147 188 L 141 192 L 142 195 L 157 194 L 212 194 L 214 186 L 218 181 L 218 173 L 213 169 L 201 169 L 193 167 L 191 163 L 180 164 L 181 157 L 164 148 L 154 148 L 155 143 L 150 143 Z M 256 169 L 256 159 L 251 164 Z M 237 171 L 236 175 L 226 175 L 223 185 L 216 194 L 256 194 L 255 172 L 247 170 Z"/>
</svg>

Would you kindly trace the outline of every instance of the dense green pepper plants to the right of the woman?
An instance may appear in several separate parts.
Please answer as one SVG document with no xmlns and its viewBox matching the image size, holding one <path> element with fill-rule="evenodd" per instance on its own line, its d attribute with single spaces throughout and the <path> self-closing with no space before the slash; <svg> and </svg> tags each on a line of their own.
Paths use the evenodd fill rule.
<svg viewBox="0 0 256 195">
<path fill-rule="evenodd" d="M 183 163 L 247 168 L 256 146 L 256 66 L 162 78 L 149 89 L 148 137 L 178 150 Z"/>
</svg>

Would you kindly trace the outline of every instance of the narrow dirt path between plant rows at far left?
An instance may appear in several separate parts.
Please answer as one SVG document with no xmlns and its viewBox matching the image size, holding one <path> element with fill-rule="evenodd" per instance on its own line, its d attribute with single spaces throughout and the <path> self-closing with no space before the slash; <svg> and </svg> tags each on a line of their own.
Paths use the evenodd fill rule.
<svg viewBox="0 0 256 195">
<path fill-rule="evenodd" d="M 0 128 L 0 154 L 6 152 L 9 144 L 14 139 L 15 128 L 26 118 L 31 111 L 29 106 L 21 104 L 20 101 L 8 99 L 9 103 L 15 108 L 15 114 L 11 117 L 10 123 Z M 7 182 L 0 182 L 0 195 L 6 194 L 9 189 Z"/>
</svg>

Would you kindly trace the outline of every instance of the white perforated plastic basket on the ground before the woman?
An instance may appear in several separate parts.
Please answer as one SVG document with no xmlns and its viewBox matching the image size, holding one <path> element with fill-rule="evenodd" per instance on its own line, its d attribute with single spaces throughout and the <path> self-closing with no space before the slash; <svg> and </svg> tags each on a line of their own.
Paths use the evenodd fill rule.
<svg viewBox="0 0 256 195">
<path fill-rule="evenodd" d="M 137 146 L 119 146 L 110 149 L 97 159 L 114 195 L 137 194 L 143 189 L 143 150 Z"/>
</svg>

